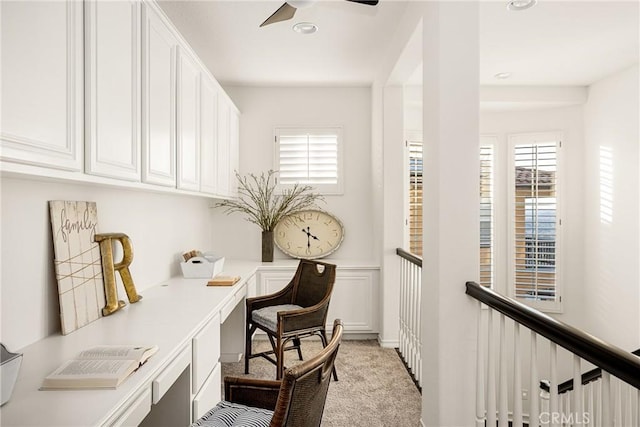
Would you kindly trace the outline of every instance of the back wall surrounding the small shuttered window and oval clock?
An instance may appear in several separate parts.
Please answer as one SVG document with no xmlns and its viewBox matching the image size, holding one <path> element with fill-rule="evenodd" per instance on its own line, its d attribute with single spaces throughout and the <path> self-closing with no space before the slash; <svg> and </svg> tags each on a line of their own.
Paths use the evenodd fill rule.
<svg viewBox="0 0 640 427">
<path fill-rule="evenodd" d="M 342 246 L 330 259 L 373 261 L 371 212 L 371 89 L 368 87 L 227 87 L 242 112 L 240 172 L 275 169 L 277 126 L 341 126 L 344 137 L 344 194 L 326 196 L 319 206 L 344 224 Z M 242 215 L 212 209 L 213 250 L 232 257 L 259 260 L 260 229 Z M 277 248 L 274 258 L 288 258 Z"/>
</svg>

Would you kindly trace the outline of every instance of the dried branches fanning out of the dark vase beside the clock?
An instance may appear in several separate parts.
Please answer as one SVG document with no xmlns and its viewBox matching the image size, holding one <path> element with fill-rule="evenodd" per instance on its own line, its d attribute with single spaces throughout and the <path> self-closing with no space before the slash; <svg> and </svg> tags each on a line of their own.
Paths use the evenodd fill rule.
<svg viewBox="0 0 640 427">
<path fill-rule="evenodd" d="M 295 184 L 276 192 L 276 174 L 273 170 L 259 176 L 251 173 L 241 176 L 236 172 L 238 198 L 223 200 L 215 207 L 224 208 L 227 214 L 243 213 L 247 221 L 258 225 L 262 231 L 273 231 L 278 221 L 287 215 L 316 207 L 318 200 L 324 201 L 320 194 L 311 192 L 309 185 Z"/>
</svg>

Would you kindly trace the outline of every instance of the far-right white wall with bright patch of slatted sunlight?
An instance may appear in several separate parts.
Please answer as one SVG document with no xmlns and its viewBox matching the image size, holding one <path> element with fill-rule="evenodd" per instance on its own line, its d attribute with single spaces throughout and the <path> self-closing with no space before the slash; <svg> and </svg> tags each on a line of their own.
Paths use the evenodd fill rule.
<svg viewBox="0 0 640 427">
<path fill-rule="evenodd" d="M 592 85 L 584 121 L 585 327 L 626 350 L 640 348 L 638 80 L 636 65 Z M 611 218 L 601 217 L 607 199 Z"/>
</svg>

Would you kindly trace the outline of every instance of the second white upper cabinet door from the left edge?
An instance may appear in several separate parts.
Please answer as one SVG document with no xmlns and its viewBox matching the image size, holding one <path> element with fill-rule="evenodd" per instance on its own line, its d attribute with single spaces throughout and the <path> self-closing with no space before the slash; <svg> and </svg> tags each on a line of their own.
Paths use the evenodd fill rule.
<svg viewBox="0 0 640 427">
<path fill-rule="evenodd" d="M 86 172 L 140 180 L 140 3 L 85 2 Z"/>
</svg>

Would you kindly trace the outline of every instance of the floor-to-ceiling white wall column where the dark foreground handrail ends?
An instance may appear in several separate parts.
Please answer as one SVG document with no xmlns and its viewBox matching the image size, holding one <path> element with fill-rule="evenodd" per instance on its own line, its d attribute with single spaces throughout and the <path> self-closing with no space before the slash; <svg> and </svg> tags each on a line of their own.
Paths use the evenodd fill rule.
<svg viewBox="0 0 640 427">
<path fill-rule="evenodd" d="M 479 275 L 477 2 L 428 2 L 423 21 L 422 422 L 475 422 Z"/>
</svg>

